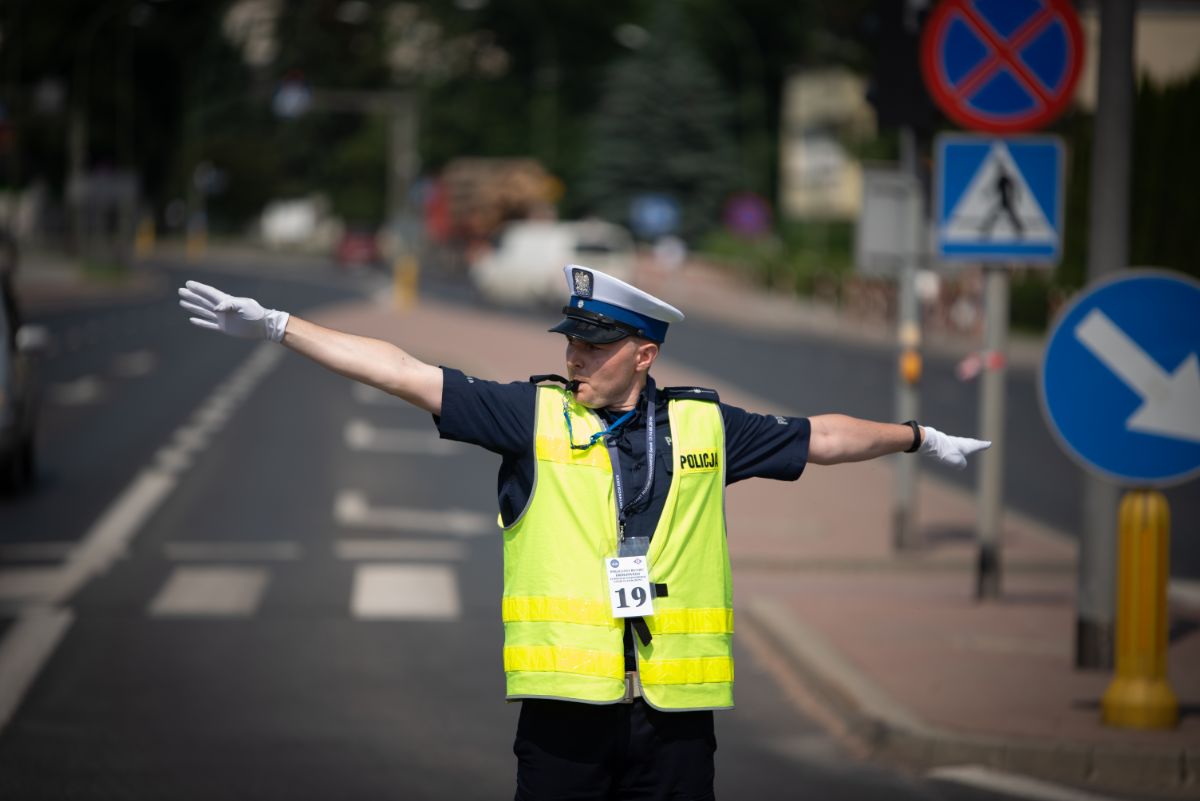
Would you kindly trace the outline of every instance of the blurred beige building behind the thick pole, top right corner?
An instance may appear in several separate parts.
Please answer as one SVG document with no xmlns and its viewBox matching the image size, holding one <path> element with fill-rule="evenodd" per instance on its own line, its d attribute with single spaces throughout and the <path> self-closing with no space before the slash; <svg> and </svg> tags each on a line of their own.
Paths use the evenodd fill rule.
<svg viewBox="0 0 1200 801">
<path fill-rule="evenodd" d="M 1200 71 L 1200 1 L 1145 0 L 1138 2 L 1134 31 L 1136 78 L 1157 84 L 1183 80 Z M 1096 85 L 1100 50 L 1100 8 L 1097 0 L 1079 10 L 1086 50 L 1075 101 L 1096 109 Z"/>
</svg>

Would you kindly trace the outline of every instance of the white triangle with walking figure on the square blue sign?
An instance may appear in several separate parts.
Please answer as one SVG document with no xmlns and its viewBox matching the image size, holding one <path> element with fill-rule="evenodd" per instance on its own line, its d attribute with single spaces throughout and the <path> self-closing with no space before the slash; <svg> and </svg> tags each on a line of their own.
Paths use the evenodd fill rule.
<svg viewBox="0 0 1200 801">
<path fill-rule="evenodd" d="M 1009 187 L 1007 189 L 1002 187 Z M 1043 242 L 1056 234 L 1003 141 L 995 141 L 942 230 L 948 242 Z"/>
</svg>

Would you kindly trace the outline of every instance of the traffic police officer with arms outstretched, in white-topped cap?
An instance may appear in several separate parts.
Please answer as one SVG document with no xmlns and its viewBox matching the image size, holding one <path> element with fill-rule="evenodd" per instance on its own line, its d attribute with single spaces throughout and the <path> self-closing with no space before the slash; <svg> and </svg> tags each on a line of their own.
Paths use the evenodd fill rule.
<svg viewBox="0 0 1200 801">
<path fill-rule="evenodd" d="M 733 706 L 726 484 L 922 452 L 958 466 L 990 444 L 929 426 L 782 417 L 659 387 L 673 306 L 564 269 L 565 377 L 499 384 L 386 342 L 187 282 L 200 327 L 265 338 L 434 415 L 503 457 L 504 670 L 521 700 L 518 800 L 710 799 L 713 710 Z"/>
</svg>

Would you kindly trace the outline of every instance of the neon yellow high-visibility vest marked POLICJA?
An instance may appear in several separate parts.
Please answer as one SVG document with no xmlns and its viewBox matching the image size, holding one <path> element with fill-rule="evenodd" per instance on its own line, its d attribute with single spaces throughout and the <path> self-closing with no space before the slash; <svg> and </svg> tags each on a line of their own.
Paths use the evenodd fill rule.
<svg viewBox="0 0 1200 801">
<path fill-rule="evenodd" d="M 733 578 L 725 538 L 725 427 L 718 404 L 668 402 L 671 487 L 648 553 L 666 596 L 635 638 L 642 694 L 656 709 L 733 706 Z M 617 554 L 612 463 L 602 430 L 566 391 L 538 389 L 536 477 L 504 529 L 504 673 L 508 698 L 611 704 L 625 693 L 624 621 L 614 619 L 605 561 Z M 649 465 L 648 469 L 653 469 Z"/>
</svg>

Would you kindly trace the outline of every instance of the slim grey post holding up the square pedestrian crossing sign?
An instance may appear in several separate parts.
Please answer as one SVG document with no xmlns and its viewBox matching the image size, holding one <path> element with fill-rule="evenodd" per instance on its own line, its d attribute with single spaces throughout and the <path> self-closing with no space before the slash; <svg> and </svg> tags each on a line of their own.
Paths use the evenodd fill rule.
<svg viewBox="0 0 1200 801">
<path fill-rule="evenodd" d="M 1008 343 L 1008 269 L 984 267 L 984 373 L 979 429 L 991 448 L 979 459 L 979 561 L 976 597 L 1000 597 L 1000 531 L 1004 516 L 1004 351 Z"/>
</svg>

